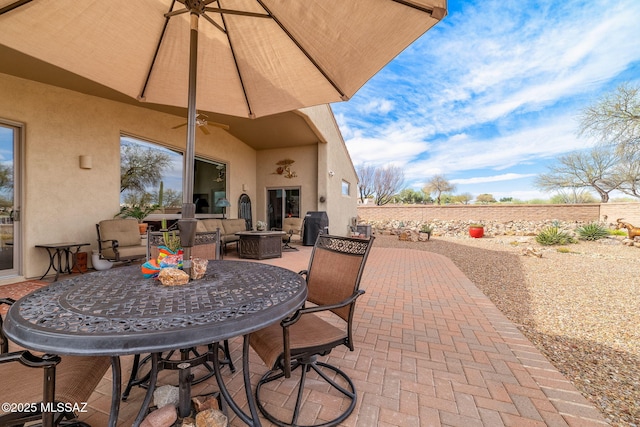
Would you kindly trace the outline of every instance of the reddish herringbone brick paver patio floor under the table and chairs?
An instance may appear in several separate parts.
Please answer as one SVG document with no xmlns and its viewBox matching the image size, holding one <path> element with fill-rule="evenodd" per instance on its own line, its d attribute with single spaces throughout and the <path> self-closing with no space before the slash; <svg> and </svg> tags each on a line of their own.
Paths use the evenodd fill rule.
<svg viewBox="0 0 640 427">
<path fill-rule="evenodd" d="M 311 247 L 300 249 L 264 262 L 305 269 Z M 374 246 L 362 288 L 366 294 L 356 310 L 355 351 L 338 349 L 327 356 L 351 376 L 358 391 L 356 409 L 343 425 L 607 425 L 447 258 Z M 240 366 L 241 341 L 232 340 L 231 347 Z M 266 366 L 255 354 L 251 357 L 255 385 Z M 124 376 L 129 365 L 130 358 L 124 358 Z M 223 372 L 232 394 L 242 396 L 241 373 Z M 163 380 L 171 382 L 174 374 L 163 373 Z M 213 390 L 211 379 L 195 386 L 194 394 Z M 286 407 L 292 392 L 287 390 L 274 392 L 270 405 Z M 110 393 L 108 374 L 92 396 L 92 412 L 83 417 L 94 427 L 106 426 Z M 119 425 L 131 425 L 143 395 L 143 389 L 134 389 L 122 405 Z M 317 406 L 316 421 L 330 416 L 339 403 L 322 396 L 309 400 Z M 242 423 L 232 417 L 230 425 Z M 263 425 L 269 423 L 263 420 Z"/>
</svg>

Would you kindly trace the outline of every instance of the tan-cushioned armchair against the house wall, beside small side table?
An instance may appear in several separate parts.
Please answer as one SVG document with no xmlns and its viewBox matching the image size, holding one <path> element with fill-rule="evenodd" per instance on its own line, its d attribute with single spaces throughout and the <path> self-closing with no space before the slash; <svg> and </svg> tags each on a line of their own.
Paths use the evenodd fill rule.
<svg viewBox="0 0 640 427">
<path fill-rule="evenodd" d="M 147 255 L 142 245 L 138 221 L 133 218 L 107 219 L 96 224 L 101 259 L 132 261 Z"/>
</svg>

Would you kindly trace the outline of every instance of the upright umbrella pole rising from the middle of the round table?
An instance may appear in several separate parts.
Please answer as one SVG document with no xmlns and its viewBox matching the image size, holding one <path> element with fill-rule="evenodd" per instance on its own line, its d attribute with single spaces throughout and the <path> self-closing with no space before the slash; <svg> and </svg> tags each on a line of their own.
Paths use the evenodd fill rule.
<svg viewBox="0 0 640 427">
<path fill-rule="evenodd" d="M 193 203 L 193 177 L 196 145 L 196 78 L 198 70 L 198 14 L 191 12 L 189 40 L 189 99 L 187 102 L 187 146 L 184 157 L 182 182 L 182 219 L 178 221 L 184 251 L 183 268 L 191 275 L 191 247 L 196 238 L 196 205 Z"/>
</svg>

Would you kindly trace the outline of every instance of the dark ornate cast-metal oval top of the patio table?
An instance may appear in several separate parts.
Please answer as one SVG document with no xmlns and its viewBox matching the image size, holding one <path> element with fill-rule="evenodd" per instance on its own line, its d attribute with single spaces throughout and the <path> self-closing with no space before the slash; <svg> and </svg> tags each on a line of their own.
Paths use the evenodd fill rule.
<svg viewBox="0 0 640 427">
<path fill-rule="evenodd" d="M 6 335 L 62 355 L 162 352 L 222 341 L 274 323 L 303 304 L 304 279 L 280 267 L 209 261 L 184 286 L 145 279 L 139 266 L 73 277 L 15 303 Z"/>
</svg>

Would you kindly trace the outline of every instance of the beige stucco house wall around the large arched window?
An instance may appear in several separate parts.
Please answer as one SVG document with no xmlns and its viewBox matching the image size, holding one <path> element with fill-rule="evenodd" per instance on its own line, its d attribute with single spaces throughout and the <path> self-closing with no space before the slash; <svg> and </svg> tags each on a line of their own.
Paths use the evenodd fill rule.
<svg viewBox="0 0 640 427">
<path fill-rule="evenodd" d="M 104 100 L 78 92 L 0 74 L 0 118 L 24 123 L 21 169 L 23 275 L 37 277 L 48 257 L 35 245 L 63 241 L 97 248 L 96 222 L 119 208 L 120 135 L 122 133 L 183 149 L 184 118 Z M 229 133 L 211 128 L 196 132 L 196 154 L 229 164 L 229 209 L 247 184 L 255 198 L 256 153 Z M 93 158 L 80 169 L 79 156 Z M 255 213 L 254 213 L 255 215 Z"/>
</svg>

